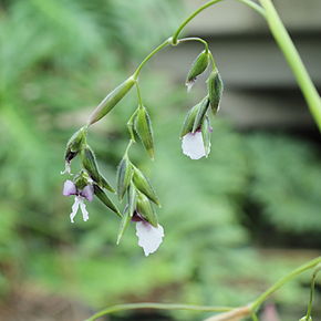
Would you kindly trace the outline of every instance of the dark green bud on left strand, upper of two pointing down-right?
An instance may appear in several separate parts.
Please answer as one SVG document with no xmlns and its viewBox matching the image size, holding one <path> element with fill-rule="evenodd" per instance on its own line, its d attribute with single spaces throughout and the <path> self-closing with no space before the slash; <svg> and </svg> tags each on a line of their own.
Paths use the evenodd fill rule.
<svg viewBox="0 0 321 321">
<path fill-rule="evenodd" d="M 83 167 L 87 170 L 91 178 L 101 187 L 114 193 L 114 188 L 107 183 L 107 180 L 100 174 L 96 157 L 92 148 L 86 145 L 81 152 L 81 159 Z"/>
</svg>

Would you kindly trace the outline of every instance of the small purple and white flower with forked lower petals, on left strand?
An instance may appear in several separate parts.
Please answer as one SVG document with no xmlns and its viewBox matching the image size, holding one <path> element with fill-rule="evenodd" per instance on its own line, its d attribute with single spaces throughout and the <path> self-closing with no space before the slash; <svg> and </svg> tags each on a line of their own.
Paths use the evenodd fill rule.
<svg viewBox="0 0 321 321">
<path fill-rule="evenodd" d="M 63 191 L 62 194 L 64 196 L 71 196 L 74 195 L 74 204 L 72 206 L 72 213 L 70 214 L 71 222 L 74 222 L 74 217 L 81 208 L 83 220 L 86 221 L 89 219 L 89 213 L 86 210 L 86 205 L 84 204 L 84 199 L 87 199 L 89 201 L 92 201 L 94 198 L 94 188 L 92 185 L 86 185 L 83 189 L 77 189 L 76 186 L 72 180 L 65 180 L 63 185 Z"/>
</svg>

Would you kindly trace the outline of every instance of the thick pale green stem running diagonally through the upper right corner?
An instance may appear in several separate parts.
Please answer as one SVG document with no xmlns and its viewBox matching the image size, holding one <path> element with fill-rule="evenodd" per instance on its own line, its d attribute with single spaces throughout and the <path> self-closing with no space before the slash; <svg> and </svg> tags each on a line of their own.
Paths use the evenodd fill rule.
<svg viewBox="0 0 321 321">
<path fill-rule="evenodd" d="M 321 99 L 311 77 L 271 0 L 259 0 L 266 10 L 266 19 L 288 64 L 290 65 L 302 94 L 321 131 Z"/>
</svg>

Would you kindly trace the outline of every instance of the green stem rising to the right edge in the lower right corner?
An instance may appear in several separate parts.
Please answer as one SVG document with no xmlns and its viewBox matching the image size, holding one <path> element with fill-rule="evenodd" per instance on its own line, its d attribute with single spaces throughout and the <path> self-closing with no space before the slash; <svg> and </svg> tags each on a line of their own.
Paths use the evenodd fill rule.
<svg viewBox="0 0 321 321">
<path fill-rule="evenodd" d="M 266 292 L 263 292 L 261 296 L 259 296 L 255 302 L 252 302 L 250 304 L 250 309 L 252 311 L 256 311 L 261 304 L 262 302 L 265 302 L 267 300 L 267 298 L 269 296 L 271 296 L 273 292 L 276 292 L 278 289 L 280 289 L 284 283 L 291 281 L 292 279 L 294 279 L 297 276 L 301 275 L 302 272 L 314 268 L 315 266 L 318 266 L 321 262 L 321 257 L 315 258 L 311 261 L 309 261 L 308 263 L 299 267 L 298 269 L 293 270 L 292 272 L 290 272 L 288 276 L 281 278 L 278 282 L 276 282 L 272 287 L 270 287 Z"/>
</svg>

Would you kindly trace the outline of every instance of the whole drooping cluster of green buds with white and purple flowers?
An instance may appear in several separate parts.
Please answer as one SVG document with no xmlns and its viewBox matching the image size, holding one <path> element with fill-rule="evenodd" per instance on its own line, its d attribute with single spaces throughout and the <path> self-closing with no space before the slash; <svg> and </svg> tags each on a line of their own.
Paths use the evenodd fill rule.
<svg viewBox="0 0 321 321">
<path fill-rule="evenodd" d="M 74 222 L 79 209 L 83 220 L 89 219 L 85 200 L 92 201 L 96 196 L 110 210 L 121 217 L 117 244 L 120 244 L 130 222 L 134 222 L 136 224 L 138 246 L 143 248 L 145 256 L 148 256 L 158 249 L 164 237 L 164 228 L 158 224 L 154 209 L 155 206 L 159 206 L 159 199 L 148 178 L 131 162 L 128 156 L 130 148 L 139 139 L 149 157 L 154 158 L 152 122 L 147 108 L 143 105 L 137 80 L 143 63 L 132 76 L 97 105 L 90 115 L 87 124 L 72 135 L 66 144 L 65 169 L 62 174 L 69 174 L 72 177 L 72 179 L 66 179 L 63 186 L 64 196 L 74 196 L 70 214 L 72 222 Z M 180 134 L 183 153 L 191 159 L 207 157 L 210 152 L 211 127 L 207 114 L 209 108 L 214 114 L 217 113 L 222 93 L 222 82 L 207 45 L 194 61 L 186 79 L 189 91 L 196 79 L 206 71 L 210 63 L 213 70 L 207 80 L 208 93 L 200 103 L 187 113 Z M 86 135 L 89 127 L 103 118 L 134 85 L 137 89 L 138 107 L 127 122 L 130 143 L 117 168 L 116 194 L 120 201 L 126 199 L 123 211 L 120 211 L 105 193 L 115 193 L 115 190 L 101 174 L 94 152 L 86 142 Z M 81 170 L 73 175 L 71 174 L 71 162 L 77 156 L 81 159 Z"/>
</svg>

